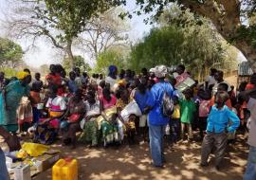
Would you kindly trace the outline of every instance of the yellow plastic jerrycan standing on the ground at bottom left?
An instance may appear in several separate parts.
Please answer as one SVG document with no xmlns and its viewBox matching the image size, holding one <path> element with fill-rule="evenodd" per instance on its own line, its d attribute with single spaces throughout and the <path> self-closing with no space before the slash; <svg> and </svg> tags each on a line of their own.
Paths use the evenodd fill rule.
<svg viewBox="0 0 256 180">
<path fill-rule="evenodd" d="M 60 159 L 52 167 L 52 180 L 78 180 L 78 162 L 76 159 Z"/>
</svg>

